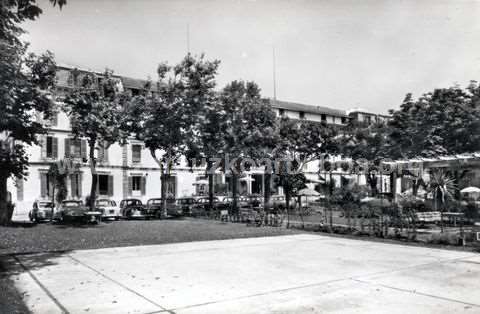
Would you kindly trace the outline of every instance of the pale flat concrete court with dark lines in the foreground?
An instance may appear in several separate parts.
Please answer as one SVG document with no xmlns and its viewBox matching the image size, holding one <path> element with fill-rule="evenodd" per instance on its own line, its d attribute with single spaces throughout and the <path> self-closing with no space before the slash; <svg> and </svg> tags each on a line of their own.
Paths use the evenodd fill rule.
<svg viewBox="0 0 480 314">
<path fill-rule="evenodd" d="M 34 313 L 480 313 L 480 255 L 294 235 L 3 257 Z"/>
</svg>

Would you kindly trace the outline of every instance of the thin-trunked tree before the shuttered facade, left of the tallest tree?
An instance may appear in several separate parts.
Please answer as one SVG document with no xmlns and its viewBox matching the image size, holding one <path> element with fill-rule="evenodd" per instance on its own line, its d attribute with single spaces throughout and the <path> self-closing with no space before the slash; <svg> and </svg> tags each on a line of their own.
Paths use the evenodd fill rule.
<svg viewBox="0 0 480 314">
<path fill-rule="evenodd" d="M 63 99 L 73 135 L 75 138 L 85 138 L 88 144 L 92 175 L 89 206 L 92 210 L 95 208 L 98 178 L 95 149 L 98 149 L 98 146 L 108 149 L 115 142 L 124 143 L 128 136 L 123 123 L 127 116 L 124 113 L 128 107 L 128 96 L 116 88 L 112 74 L 106 70 L 102 82 L 98 84 L 96 77 L 87 73 L 81 78 L 79 87 L 74 88 Z"/>
</svg>

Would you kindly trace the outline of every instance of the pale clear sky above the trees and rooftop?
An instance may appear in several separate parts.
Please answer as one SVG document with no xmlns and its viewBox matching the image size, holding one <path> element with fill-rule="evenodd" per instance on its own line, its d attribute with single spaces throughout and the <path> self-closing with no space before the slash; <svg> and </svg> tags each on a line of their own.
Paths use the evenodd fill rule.
<svg viewBox="0 0 480 314">
<path fill-rule="evenodd" d="M 189 46 L 221 61 L 218 88 L 255 81 L 273 97 L 275 50 L 277 99 L 379 113 L 407 93 L 480 80 L 480 1 L 38 2 L 44 13 L 23 25 L 32 51 L 135 78 L 156 79 Z"/>
</svg>

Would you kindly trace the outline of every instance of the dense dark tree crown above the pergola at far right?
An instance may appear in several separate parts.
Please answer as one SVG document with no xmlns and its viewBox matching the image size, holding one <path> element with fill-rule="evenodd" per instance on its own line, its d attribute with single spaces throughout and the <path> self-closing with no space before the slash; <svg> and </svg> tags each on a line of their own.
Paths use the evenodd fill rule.
<svg viewBox="0 0 480 314">
<path fill-rule="evenodd" d="M 407 94 L 391 111 L 389 155 L 392 158 L 436 157 L 480 150 L 480 87 L 472 81 L 435 89 L 414 100 Z"/>
</svg>

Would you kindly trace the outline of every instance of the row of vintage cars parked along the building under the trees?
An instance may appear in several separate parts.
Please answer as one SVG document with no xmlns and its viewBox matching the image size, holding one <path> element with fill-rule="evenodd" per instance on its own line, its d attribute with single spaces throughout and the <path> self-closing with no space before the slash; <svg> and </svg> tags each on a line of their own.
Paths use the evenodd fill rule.
<svg viewBox="0 0 480 314">
<path fill-rule="evenodd" d="M 146 204 L 136 198 L 127 198 L 118 205 L 111 199 L 97 199 L 95 210 L 90 208 L 81 200 L 65 200 L 57 210 L 53 210 L 53 203 L 49 201 L 35 201 L 29 212 L 32 222 L 54 220 L 60 222 L 81 221 L 85 223 L 97 223 L 105 219 L 152 219 L 179 217 L 179 216 L 204 216 L 212 211 L 230 210 L 233 204 L 232 197 L 213 198 L 213 208 L 210 208 L 208 197 L 184 197 L 169 198 L 165 201 L 161 198 L 151 198 Z M 237 198 L 237 206 L 240 209 L 261 208 L 263 198 L 261 195 L 240 196 Z M 274 208 L 285 207 L 284 196 L 272 196 L 271 205 Z"/>
</svg>

